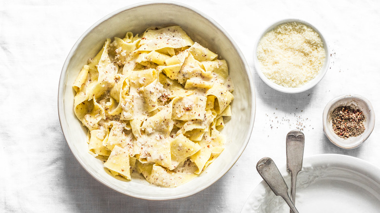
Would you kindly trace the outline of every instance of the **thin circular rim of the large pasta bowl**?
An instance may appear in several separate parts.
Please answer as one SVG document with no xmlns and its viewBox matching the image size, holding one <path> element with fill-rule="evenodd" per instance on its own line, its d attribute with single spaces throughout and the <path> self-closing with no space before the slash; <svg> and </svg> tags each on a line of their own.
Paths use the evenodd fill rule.
<svg viewBox="0 0 380 213">
<path fill-rule="evenodd" d="M 222 32 L 224 34 L 224 36 L 226 36 L 228 38 L 229 42 L 231 43 L 231 46 L 234 48 L 236 53 L 238 53 L 238 55 L 239 55 L 239 57 L 243 63 L 243 67 L 245 68 L 245 70 L 247 72 L 247 78 L 248 78 L 248 83 L 249 83 L 249 89 L 251 91 L 251 100 L 252 100 L 252 103 L 251 103 L 252 107 L 250 109 L 250 113 L 251 113 L 252 117 L 249 121 L 249 127 L 248 127 L 247 135 L 245 136 L 244 143 L 239 148 L 237 155 L 235 155 L 235 157 L 230 161 L 229 165 L 226 167 L 226 171 L 223 172 L 222 175 L 215 176 L 215 177 L 211 178 L 211 180 L 207 184 L 204 184 L 202 187 L 199 187 L 196 190 L 190 191 L 188 193 L 181 193 L 178 195 L 168 195 L 165 197 L 155 197 L 152 195 L 134 195 L 133 193 L 129 193 L 129 192 L 126 192 L 124 190 L 121 190 L 120 188 L 114 187 L 113 185 L 109 184 L 106 180 L 103 180 L 101 177 L 98 177 L 93 171 L 91 171 L 91 169 L 87 167 L 86 163 L 80 158 L 80 153 L 76 152 L 76 149 L 74 148 L 74 145 L 72 144 L 72 142 L 69 142 L 67 140 L 68 136 L 66 136 L 66 135 L 68 134 L 68 129 L 66 128 L 67 121 L 65 119 L 66 116 L 65 116 L 65 111 L 64 111 L 65 107 L 64 107 L 64 100 L 63 100 L 65 86 L 67 85 L 66 77 L 67 77 L 68 65 L 70 64 L 70 61 L 73 58 L 76 49 L 78 48 L 79 44 L 83 41 L 83 39 L 87 35 L 89 35 L 99 24 L 105 22 L 107 19 L 112 18 L 112 17 L 114 17 L 114 16 L 116 16 L 116 15 L 118 15 L 124 11 L 135 9 L 137 7 L 148 6 L 148 5 L 152 5 L 152 4 L 174 5 L 174 6 L 184 7 L 186 9 L 189 9 L 189 10 L 195 12 L 196 14 L 200 15 L 202 18 L 205 18 L 206 20 L 208 20 L 213 26 L 215 26 L 215 28 L 217 28 L 220 32 Z M 98 21 L 96 21 L 95 24 L 93 24 L 90 28 L 88 28 L 78 38 L 78 40 L 76 41 L 76 43 L 74 44 L 74 46 L 70 50 L 68 56 L 66 57 L 65 62 L 64 62 L 63 67 L 62 67 L 62 70 L 61 70 L 61 74 L 59 77 L 59 84 L 58 84 L 57 109 L 58 109 L 59 123 L 61 126 L 62 133 L 65 137 L 65 140 L 66 140 L 72 154 L 76 158 L 76 160 L 79 162 L 79 164 L 82 166 L 82 168 L 88 174 L 90 174 L 92 177 L 94 177 L 98 182 L 102 183 L 103 185 L 109 187 L 110 189 L 113 189 L 114 191 L 116 191 L 118 193 L 124 194 L 124 195 L 132 196 L 132 197 L 140 198 L 140 199 L 147 199 L 147 200 L 170 200 L 170 199 L 178 199 L 178 198 L 187 197 L 187 196 L 194 195 L 194 194 L 197 194 L 197 193 L 203 191 L 204 189 L 208 188 L 213 183 L 215 183 L 217 180 L 219 180 L 221 177 L 223 177 L 225 174 L 227 174 L 227 172 L 232 168 L 232 166 L 236 163 L 236 161 L 243 154 L 243 151 L 247 147 L 250 136 L 252 134 L 253 124 L 254 124 L 254 120 L 255 120 L 255 113 L 256 113 L 256 93 L 255 93 L 255 88 L 254 88 L 254 84 L 253 84 L 252 73 L 249 69 L 249 66 L 247 64 L 246 58 L 244 57 L 244 54 L 241 52 L 241 50 L 239 49 L 238 45 L 234 42 L 232 37 L 230 35 L 228 35 L 227 31 L 224 30 L 215 20 L 213 20 L 212 18 L 210 18 L 208 15 L 204 14 L 203 12 L 199 11 L 198 9 L 190 7 L 190 6 L 183 4 L 183 3 L 174 2 L 174 1 L 158 1 L 158 2 L 157 1 L 146 1 L 146 2 L 142 2 L 142 3 L 131 4 L 129 6 L 119 8 L 119 9 L 115 10 L 114 12 L 111 12 L 110 14 L 108 14 L 108 15 L 104 16 L 103 18 L 99 19 Z"/>
</svg>

